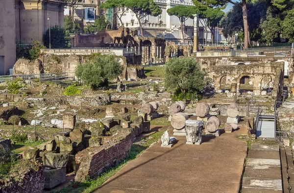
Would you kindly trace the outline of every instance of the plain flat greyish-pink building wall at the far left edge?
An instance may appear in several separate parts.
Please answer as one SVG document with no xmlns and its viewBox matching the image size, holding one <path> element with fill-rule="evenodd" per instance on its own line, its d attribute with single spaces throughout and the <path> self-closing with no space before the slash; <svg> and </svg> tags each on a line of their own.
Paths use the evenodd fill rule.
<svg viewBox="0 0 294 193">
<path fill-rule="evenodd" d="M 14 0 L 1 0 L 0 6 L 0 75 L 9 72 L 16 60 Z"/>
</svg>

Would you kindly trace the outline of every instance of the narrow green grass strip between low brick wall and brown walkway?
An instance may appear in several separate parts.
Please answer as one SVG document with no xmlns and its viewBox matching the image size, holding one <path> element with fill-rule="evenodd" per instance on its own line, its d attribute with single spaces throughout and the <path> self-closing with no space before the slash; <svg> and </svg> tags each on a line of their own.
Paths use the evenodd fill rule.
<svg viewBox="0 0 294 193">
<path fill-rule="evenodd" d="M 68 187 L 64 187 L 58 191 L 51 191 L 50 193 L 92 193 L 106 180 L 113 176 L 117 171 L 122 169 L 123 166 L 125 166 L 129 161 L 137 158 L 151 144 L 157 142 L 164 132 L 165 130 L 157 131 L 151 134 L 149 137 L 144 138 L 140 143 L 133 144 L 127 157 L 125 157 L 121 162 L 117 163 L 115 166 L 105 169 L 104 172 L 97 178 L 88 178 L 83 183 L 72 182 L 69 184 Z"/>
</svg>

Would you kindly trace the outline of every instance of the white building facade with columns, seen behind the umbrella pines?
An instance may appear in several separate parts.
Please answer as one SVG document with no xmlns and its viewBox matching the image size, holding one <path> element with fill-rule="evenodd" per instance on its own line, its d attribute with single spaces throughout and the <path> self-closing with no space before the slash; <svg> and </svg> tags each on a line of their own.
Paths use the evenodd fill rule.
<svg viewBox="0 0 294 193">
<path fill-rule="evenodd" d="M 165 38 L 168 41 L 172 41 L 175 43 L 182 42 L 182 34 L 180 28 L 180 21 L 176 16 L 170 16 L 167 13 L 169 8 L 172 8 L 176 5 L 186 5 L 186 6 L 193 6 L 192 0 L 153 0 L 158 4 L 161 8 L 162 13 L 157 16 L 146 16 L 141 19 L 141 24 L 143 28 L 144 37 L 159 37 Z M 119 14 L 122 14 L 122 11 L 119 10 Z M 121 25 L 118 21 L 118 25 Z M 135 16 L 135 14 L 128 9 L 126 12 L 123 13 L 122 22 L 125 27 L 129 27 L 130 29 L 137 29 L 138 35 L 141 35 L 140 25 Z M 194 21 L 193 19 L 188 19 L 185 21 L 184 24 L 184 35 L 185 35 L 185 44 L 193 44 L 193 37 L 194 37 Z M 217 30 L 216 30 L 217 31 Z M 204 28 L 199 23 L 199 43 L 203 44 L 205 42 L 211 42 L 211 33 L 208 32 L 207 41 L 205 41 L 206 34 L 204 32 Z M 217 37 L 217 34 L 215 35 Z M 204 42 L 203 42 L 204 40 Z M 219 35 L 219 42 L 224 42 L 225 38 L 222 35 Z"/>
</svg>

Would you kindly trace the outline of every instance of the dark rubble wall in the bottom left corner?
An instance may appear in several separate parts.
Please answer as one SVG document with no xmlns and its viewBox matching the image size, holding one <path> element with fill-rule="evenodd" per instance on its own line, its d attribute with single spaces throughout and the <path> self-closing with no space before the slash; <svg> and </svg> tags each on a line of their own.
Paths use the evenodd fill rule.
<svg viewBox="0 0 294 193">
<path fill-rule="evenodd" d="M 38 163 L 36 168 L 25 173 L 17 173 L 17 180 L 14 179 L 16 177 L 0 180 L 0 193 L 43 193 L 44 167 Z"/>
</svg>

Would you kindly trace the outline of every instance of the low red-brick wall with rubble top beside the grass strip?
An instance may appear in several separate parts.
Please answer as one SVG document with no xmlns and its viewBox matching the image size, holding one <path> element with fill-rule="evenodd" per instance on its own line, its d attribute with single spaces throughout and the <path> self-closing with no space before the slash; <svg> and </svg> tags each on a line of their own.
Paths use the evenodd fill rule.
<svg viewBox="0 0 294 193">
<path fill-rule="evenodd" d="M 75 155 L 75 181 L 83 181 L 87 176 L 95 177 L 115 162 L 122 160 L 132 145 L 131 133 L 100 147 L 88 147 Z"/>
</svg>

